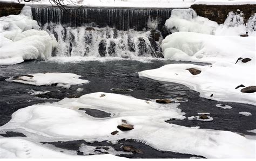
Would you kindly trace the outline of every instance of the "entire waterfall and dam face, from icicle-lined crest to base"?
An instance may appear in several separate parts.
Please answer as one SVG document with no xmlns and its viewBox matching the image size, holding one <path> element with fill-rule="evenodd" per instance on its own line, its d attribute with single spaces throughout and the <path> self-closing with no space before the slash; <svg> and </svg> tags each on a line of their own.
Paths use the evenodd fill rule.
<svg viewBox="0 0 256 161">
<path fill-rule="evenodd" d="M 160 44 L 172 9 L 31 6 L 33 19 L 53 34 L 52 56 L 163 57 Z"/>
</svg>

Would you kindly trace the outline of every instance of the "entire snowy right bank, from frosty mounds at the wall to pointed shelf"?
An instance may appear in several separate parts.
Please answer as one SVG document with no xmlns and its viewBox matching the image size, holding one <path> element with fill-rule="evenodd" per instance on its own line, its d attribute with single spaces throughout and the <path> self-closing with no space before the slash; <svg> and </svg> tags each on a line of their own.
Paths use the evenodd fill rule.
<svg viewBox="0 0 256 161">
<path fill-rule="evenodd" d="M 173 30 L 174 33 L 167 36 L 162 42 L 164 57 L 171 60 L 211 62 L 212 65 L 172 64 L 139 72 L 139 75 L 160 81 L 182 83 L 200 92 L 200 96 L 208 99 L 255 105 L 255 92 L 242 93 L 240 92 L 242 88 L 237 88 L 240 85 L 244 87 L 256 85 L 256 40 L 255 31 L 252 30 L 255 27 L 251 25 L 246 27 L 238 21 L 238 19 L 241 20 L 240 15 L 231 15 L 227 18 L 225 23 L 233 22 L 232 25 L 217 25 L 206 18 L 197 16 L 191 9 L 173 10 L 173 12 L 174 15 L 166 21 L 166 25 L 169 29 L 175 28 L 176 30 Z M 171 24 L 172 22 L 173 24 Z M 190 24 L 192 27 L 186 24 Z M 225 34 L 236 36 L 211 35 L 217 34 L 218 30 L 225 30 Z M 245 34 L 246 30 L 250 31 L 249 36 L 240 37 L 239 33 L 244 32 Z M 238 60 L 239 58 L 246 58 L 245 60 L 249 61 Z M 199 69 L 201 73 L 193 75 L 187 70 L 188 68 Z"/>
</svg>

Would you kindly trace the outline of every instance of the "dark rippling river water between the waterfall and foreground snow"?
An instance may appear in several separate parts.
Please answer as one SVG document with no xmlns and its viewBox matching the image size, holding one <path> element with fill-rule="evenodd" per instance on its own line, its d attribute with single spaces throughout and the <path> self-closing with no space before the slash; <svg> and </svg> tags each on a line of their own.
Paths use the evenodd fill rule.
<svg viewBox="0 0 256 161">
<path fill-rule="evenodd" d="M 32 104 L 43 102 L 54 102 L 64 97 L 78 97 L 88 93 L 106 92 L 131 95 L 138 99 L 181 99 L 188 100 L 181 102 L 180 108 L 186 113 L 186 117 L 197 116 L 197 113 L 211 113 L 213 121 L 201 122 L 195 120 L 169 120 L 167 123 L 184 125 L 186 127 L 199 126 L 204 129 L 217 129 L 239 132 L 240 134 L 255 135 L 247 130 L 256 129 L 256 107 L 250 104 L 217 102 L 199 97 L 199 93 L 190 88 L 179 85 L 178 83 L 160 82 L 147 78 L 140 78 L 139 71 L 146 69 L 159 68 L 166 64 L 179 64 L 182 61 L 162 61 L 152 60 L 151 62 L 139 62 L 133 60 L 114 60 L 114 61 L 84 61 L 76 63 L 57 63 L 53 61 L 26 61 L 18 65 L 0 66 L 0 125 L 7 123 L 11 119 L 11 114 L 20 108 Z M 188 62 L 185 62 L 188 63 Z M 189 62 L 191 63 L 191 62 Z M 205 65 L 194 63 L 198 65 Z M 73 85 L 70 89 L 59 88 L 55 86 L 31 86 L 22 83 L 7 82 L 5 78 L 16 75 L 43 72 L 64 72 L 75 73 L 82 76 L 82 79 L 89 80 L 90 83 L 77 86 Z M 76 92 L 77 88 L 84 88 L 83 92 Z M 132 92 L 117 92 L 111 88 L 127 88 Z M 42 99 L 35 95 L 30 95 L 30 90 L 45 91 L 50 90 L 48 98 Z M 218 103 L 224 103 L 232 106 L 232 109 L 223 109 L 216 107 Z M 247 111 L 252 116 L 240 115 L 240 111 Z M 122 141 L 124 142 L 124 141 Z M 131 144 L 133 141 L 130 141 Z M 135 144 L 135 143 L 134 143 Z M 137 143 L 137 146 L 145 146 Z M 145 148 L 145 147 L 144 147 Z M 149 147 L 146 146 L 145 149 Z M 153 151 L 153 150 L 149 150 Z M 156 151 L 156 150 L 155 150 Z M 157 153 L 157 152 L 156 152 Z M 159 152 L 158 152 L 159 153 Z M 190 156 L 171 155 L 160 152 L 159 156 L 166 158 L 187 158 Z M 155 155 L 157 157 L 157 154 Z M 151 158 L 148 156 L 148 158 Z"/>
</svg>

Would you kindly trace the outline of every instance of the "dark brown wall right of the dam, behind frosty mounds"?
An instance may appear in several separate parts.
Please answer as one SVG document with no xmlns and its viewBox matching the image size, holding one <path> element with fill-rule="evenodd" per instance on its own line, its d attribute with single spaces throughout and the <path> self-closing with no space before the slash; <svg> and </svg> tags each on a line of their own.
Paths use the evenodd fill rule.
<svg viewBox="0 0 256 161">
<path fill-rule="evenodd" d="M 206 17 L 210 20 L 223 24 L 229 12 L 236 12 L 238 9 L 244 13 L 245 23 L 254 13 L 256 13 L 256 5 L 205 5 L 194 4 L 191 8 L 197 12 L 198 16 Z"/>
</svg>

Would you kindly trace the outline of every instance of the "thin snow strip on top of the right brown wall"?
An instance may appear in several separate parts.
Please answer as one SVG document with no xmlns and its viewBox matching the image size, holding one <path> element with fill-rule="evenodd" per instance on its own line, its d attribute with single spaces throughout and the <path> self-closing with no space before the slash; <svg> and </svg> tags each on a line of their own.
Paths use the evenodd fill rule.
<svg viewBox="0 0 256 161">
<path fill-rule="evenodd" d="M 206 5 L 244 5 L 256 4 L 255 0 L 196 0 L 194 4 Z"/>
</svg>

